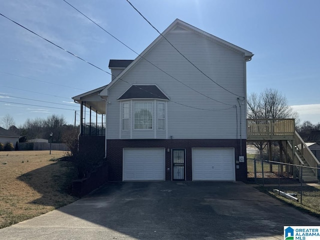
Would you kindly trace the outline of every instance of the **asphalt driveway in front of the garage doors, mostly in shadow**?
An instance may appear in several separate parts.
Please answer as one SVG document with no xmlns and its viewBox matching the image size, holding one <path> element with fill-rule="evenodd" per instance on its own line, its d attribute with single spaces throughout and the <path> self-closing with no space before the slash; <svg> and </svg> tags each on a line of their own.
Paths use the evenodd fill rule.
<svg viewBox="0 0 320 240">
<path fill-rule="evenodd" d="M 283 239 L 283 225 L 320 219 L 242 182 L 113 182 L 0 238 Z"/>
</svg>

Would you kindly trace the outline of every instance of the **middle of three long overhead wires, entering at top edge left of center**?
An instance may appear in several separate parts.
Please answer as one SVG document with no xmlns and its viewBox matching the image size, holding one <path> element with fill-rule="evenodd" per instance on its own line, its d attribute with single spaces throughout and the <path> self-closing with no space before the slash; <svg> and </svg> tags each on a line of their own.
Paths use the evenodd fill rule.
<svg viewBox="0 0 320 240">
<path fill-rule="evenodd" d="M 66 0 L 63 0 L 65 3 L 67 3 L 69 6 L 71 6 L 73 9 L 75 9 L 77 12 L 79 12 L 80 14 L 82 14 L 84 17 L 86 17 L 88 20 L 90 20 L 91 22 L 93 22 L 95 25 L 97 25 L 99 28 L 101 28 L 103 31 L 105 31 L 107 34 L 109 34 L 110 36 L 112 36 L 114 39 L 116 39 L 118 42 L 120 42 L 122 45 L 126 46 L 128 49 L 130 49 L 131 51 L 133 51 L 135 54 L 137 54 L 138 56 L 140 56 L 141 58 L 143 58 L 144 60 L 146 60 L 147 62 L 149 62 L 151 65 L 153 65 L 154 67 L 156 67 L 157 69 L 159 69 L 160 71 L 162 71 L 163 73 L 165 73 L 166 75 L 170 76 L 171 78 L 173 78 L 174 80 L 180 82 L 181 84 L 183 84 L 184 86 L 192 89 L 193 91 L 196 91 L 197 93 L 207 97 L 207 98 L 210 98 L 211 100 L 213 101 L 217 101 L 217 102 L 220 102 L 222 104 L 226 104 L 226 105 L 230 105 L 230 104 L 227 104 L 225 102 L 222 102 L 222 101 L 219 101 L 219 100 L 216 100 L 210 96 L 207 96 L 205 94 L 203 94 L 202 92 L 199 92 L 197 90 L 195 90 L 194 88 L 188 86 L 187 84 L 185 84 L 184 82 L 178 80 L 177 78 L 175 78 L 174 76 L 170 75 L 169 73 L 167 73 L 166 71 L 162 70 L 160 67 L 158 67 L 157 65 L 153 64 L 151 61 L 149 61 L 148 59 L 146 59 L 144 56 L 142 56 L 141 54 L 137 53 L 135 50 L 133 50 L 131 47 L 129 47 L 128 45 L 126 45 L 124 42 L 122 42 L 121 40 L 119 40 L 117 37 L 115 37 L 114 35 L 112 35 L 110 32 L 108 32 L 107 30 L 105 30 L 102 26 L 100 26 L 98 23 L 96 23 L 95 21 L 93 21 L 90 17 L 88 17 L 87 15 L 85 15 L 84 13 L 82 13 L 80 10 L 78 10 L 75 6 L 71 5 L 69 2 L 67 2 Z"/>
</svg>

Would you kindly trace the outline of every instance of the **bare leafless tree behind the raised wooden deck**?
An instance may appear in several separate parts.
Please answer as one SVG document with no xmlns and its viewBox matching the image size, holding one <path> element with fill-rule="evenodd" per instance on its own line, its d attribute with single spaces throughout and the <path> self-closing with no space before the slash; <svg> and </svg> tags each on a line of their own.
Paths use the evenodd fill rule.
<svg viewBox="0 0 320 240">
<path fill-rule="evenodd" d="M 273 88 L 266 88 L 259 95 L 251 93 L 247 97 L 247 117 L 255 119 L 295 118 L 295 122 L 299 122 L 298 113 L 287 104 L 286 97 Z M 259 155 L 262 157 L 267 143 L 258 141 L 252 144 L 259 149 Z"/>
</svg>

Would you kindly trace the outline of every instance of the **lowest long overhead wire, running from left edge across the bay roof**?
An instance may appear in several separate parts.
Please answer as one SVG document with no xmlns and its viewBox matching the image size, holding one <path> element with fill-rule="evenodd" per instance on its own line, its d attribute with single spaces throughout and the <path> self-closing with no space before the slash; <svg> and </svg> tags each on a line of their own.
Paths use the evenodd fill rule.
<svg viewBox="0 0 320 240">
<path fill-rule="evenodd" d="M 29 31 L 29 32 L 31 32 L 31 33 L 33 33 L 33 34 L 35 34 L 36 36 L 40 37 L 41 39 L 43 39 L 43 40 L 45 40 L 45 41 L 47 41 L 47 42 L 49 42 L 49 43 L 51 43 L 51 44 L 55 45 L 56 47 L 58 47 L 58 48 L 60 48 L 60 49 L 62 49 L 62 50 L 64 50 L 64 51 L 68 52 L 68 53 L 69 53 L 69 54 L 71 54 L 72 56 L 75 56 L 76 58 L 78 58 L 78 59 L 80 59 L 80 60 L 82 60 L 82 61 L 84 61 L 84 62 L 86 62 L 86 63 L 90 64 L 91 66 L 93 66 L 93 67 L 95 67 L 95 68 L 97 68 L 97 69 L 99 69 L 99 70 L 101 70 L 101 71 L 103 71 L 103 72 L 105 72 L 105 73 L 107 73 L 107 74 L 109 74 L 109 75 L 111 75 L 111 76 L 114 76 L 114 75 L 112 75 L 111 73 L 109 73 L 109 72 L 107 72 L 107 71 L 103 70 L 102 68 L 100 68 L 100 67 L 98 67 L 98 66 L 94 65 L 93 63 L 91 63 L 91 62 L 89 62 L 89 61 L 86 61 L 85 59 L 83 59 L 83 58 L 81 58 L 81 57 L 79 57 L 79 56 L 75 55 L 74 53 L 72 53 L 72 52 L 70 52 L 70 51 L 68 51 L 68 50 L 66 50 L 66 49 L 64 49 L 64 48 L 62 48 L 61 46 L 59 46 L 59 45 L 57 45 L 57 44 L 53 43 L 52 41 L 50 41 L 50 40 L 48 40 L 48 39 L 46 39 L 46 38 L 44 38 L 44 37 L 40 36 L 39 34 L 35 33 L 34 31 L 31 31 L 30 29 L 26 28 L 25 26 L 22 26 L 21 24 L 19 24 L 19 23 L 17 23 L 16 21 L 14 21 L 14 20 L 12 20 L 12 19 L 8 18 L 7 16 L 3 15 L 2 13 L 0 13 L 0 15 L 1 15 L 1 16 L 3 16 L 3 17 L 5 17 L 6 19 L 8 19 L 8 20 L 12 21 L 13 23 L 15 23 L 15 24 L 17 24 L 17 25 L 21 26 L 22 28 L 26 29 L 27 31 Z M 116 77 L 116 76 L 115 76 L 115 77 Z M 155 93 L 153 93 L 153 92 L 147 91 L 147 90 L 145 90 L 145 89 L 143 89 L 143 88 L 139 87 L 138 85 L 133 85 L 132 83 L 130 83 L 130 82 L 126 81 L 126 80 L 123 80 L 123 79 L 122 79 L 122 78 L 120 78 L 120 77 L 117 77 L 117 78 L 118 78 L 118 79 L 120 79 L 120 80 L 122 80 L 123 82 L 128 83 L 128 84 L 129 84 L 129 85 L 131 85 L 131 86 L 137 87 L 137 88 L 139 88 L 139 89 L 141 89 L 141 90 L 143 90 L 143 91 L 146 91 L 146 92 L 148 92 L 148 93 L 150 93 L 150 94 L 152 94 L 152 95 L 154 95 L 154 96 L 158 96 L 158 97 L 160 97 L 159 95 L 157 95 L 157 94 L 155 94 Z M 160 98 L 161 98 L 161 97 L 160 97 Z M 232 107 L 225 108 L 225 109 L 204 109 L 204 108 L 199 108 L 199 107 L 189 106 L 189 105 L 186 105 L 186 104 L 183 104 L 183 103 L 179 103 L 179 102 L 176 102 L 176 101 L 173 101 L 173 100 L 170 100 L 170 99 L 169 99 L 169 101 L 174 102 L 174 103 L 179 104 L 179 105 L 182 105 L 182 106 L 186 106 L 186 107 L 190 107 L 190 108 L 194 108 L 194 109 L 199 109 L 199 110 L 205 110 L 205 111 L 226 110 L 226 109 L 230 109 L 230 108 L 232 108 L 232 107 L 233 107 L 233 106 L 232 106 Z M 226 103 L 224 103 L 224 104 L 226 104 Z"/>
</svg>

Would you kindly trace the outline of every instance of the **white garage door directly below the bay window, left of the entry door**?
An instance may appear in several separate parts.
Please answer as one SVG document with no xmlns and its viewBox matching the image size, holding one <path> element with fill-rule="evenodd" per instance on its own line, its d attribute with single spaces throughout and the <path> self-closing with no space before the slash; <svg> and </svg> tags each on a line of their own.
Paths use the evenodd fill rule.
<svg viewBox="0 0 320 240">
<path fill-rule="evenodd" d="M 123 180 L 164 180 L 164 148 L 123 148 Z"/>
</svg>

